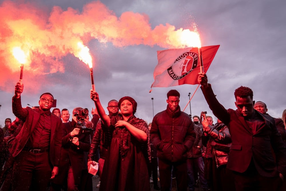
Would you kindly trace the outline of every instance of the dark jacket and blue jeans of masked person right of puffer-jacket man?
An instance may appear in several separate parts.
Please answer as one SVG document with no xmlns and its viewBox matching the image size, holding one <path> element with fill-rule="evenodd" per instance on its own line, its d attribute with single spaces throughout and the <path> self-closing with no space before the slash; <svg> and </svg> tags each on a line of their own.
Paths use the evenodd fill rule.
<svg viewBox="0 0 286 191">
<path fill-rule="evenodd" d="M 202 129 L 198 125 L 194 125 L 196 139 L 192 148 L 187 152 L 187 173 L 188 173 L 188 186 L 190 191 L 195 190 L 195 177 L 199 174 L 200 185 L 202 190 L 208 190 L 208 184 L 204 178 L 204 162 L 202 159 Z"/>
</svg>

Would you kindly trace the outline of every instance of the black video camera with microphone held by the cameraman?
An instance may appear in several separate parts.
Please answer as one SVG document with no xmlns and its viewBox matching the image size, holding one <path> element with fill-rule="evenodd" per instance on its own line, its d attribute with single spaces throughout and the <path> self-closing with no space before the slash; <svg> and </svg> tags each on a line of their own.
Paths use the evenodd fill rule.
<svg viewBox="0 0 286 191">
<path fill-rule="evenodd" d="M 93 129 L 86 127 L 86 117 L 88 116 L 88 109 L 79 109 L 74 112 L 74 116 L 76 117 L 76 120 L 78 123 L 76 124 L 76 128 L 80 129 L 80 133 L 83 134 L 90 134 Z"/>
</svg>

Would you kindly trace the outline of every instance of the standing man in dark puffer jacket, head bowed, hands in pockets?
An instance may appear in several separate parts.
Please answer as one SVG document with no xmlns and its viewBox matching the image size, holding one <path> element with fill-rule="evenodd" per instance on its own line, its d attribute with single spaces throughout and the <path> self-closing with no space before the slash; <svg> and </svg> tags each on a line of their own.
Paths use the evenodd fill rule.
<svg viewBox="0 0 286 191">
<path fill-rule="evenodd" d="M 156 114 L 150 130 L 151 140 L 159 158 L 161 190 L 169 190 L 171 171 L 176 177 L 178 190 L 187 190 L 187 151 L 196 134 L 190 116 L 180 110 L 180 93 L 172 89 L 167 93 L 167 109 Z"/>
</svg>

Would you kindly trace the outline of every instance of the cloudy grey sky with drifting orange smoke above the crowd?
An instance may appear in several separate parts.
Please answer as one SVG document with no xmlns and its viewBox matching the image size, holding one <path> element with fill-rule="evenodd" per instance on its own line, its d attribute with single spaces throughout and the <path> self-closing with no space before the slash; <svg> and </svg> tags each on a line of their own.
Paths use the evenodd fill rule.
<svg viewBox="0 0 286 191">
<path fill-rule="evenodd" d="M 24 67 L 22 106 L 38 105 L 51 92 L 57 108 L 91 110 L 90 71 L 76 56 L 80 40 L 93 58 L 96 91 L 106 108 L 111 99 L 131 96 L 136 116 L 150 122 L 166 109 L 166 93 L 177 89 L 183 109 L 197 85 L 153 88 L 157 50 L 172 47 L 166 31 L 197 27 L 202 46 L 220 45 L 208 69 L 208 79 L 225 108 L 235 108 L 234 90 L 243 85 L 268 113 L 281 117 L 286 109 L 286 2 L 239 1 L 0 1 L 0 124 L 15 116 L 11 98 L 19 79 L 13 46 L 30 50 Z M 156 30 L 155 30 L 156 29 Z M 150 34 L 153 38 L 150 38 Z M 156 37 L 156 38 L 155 38 Z M 192 115 L 207 111 L 200 89 L 191 100 Z M 190 107 L 185 110 L 190 113 Z"/>
</svg>

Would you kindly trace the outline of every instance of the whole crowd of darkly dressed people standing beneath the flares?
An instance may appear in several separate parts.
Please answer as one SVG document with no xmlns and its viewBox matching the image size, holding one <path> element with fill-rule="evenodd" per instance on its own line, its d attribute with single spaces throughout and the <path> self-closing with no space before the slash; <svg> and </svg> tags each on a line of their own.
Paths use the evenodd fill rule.
<svg viewBox="0 0 286 191">
<path fill-rule="evenodd" d="M 137 102 L 125 96 L 108 102 L 108 115 L 98 92 L 90 91 L 96 108 L 52 108 L 54 97 L 43 93 L 39 106 L 23 108 L 23 85 L 12 98 L 15 120 L 0 128 L 0 190 L 92 190 L 90 168 L 98 163 L 105 190 L 285 190 L 285 126 L 267 114 L 264 102 L 253 101 L 249 87 L 235 90 L 237 110 L 216 99 L 205 73 L 198 82 L 211 116 L 181 111 L 180 93 L 167 93 L 166 110 L 149 124 L 137 118 Z M 157 168 L 159 174 L 157 172 Z M 175 178 L 175 179 L 174 179 Z M 160 180 L 160 181 L 158 181 Z"/>
</svg>

